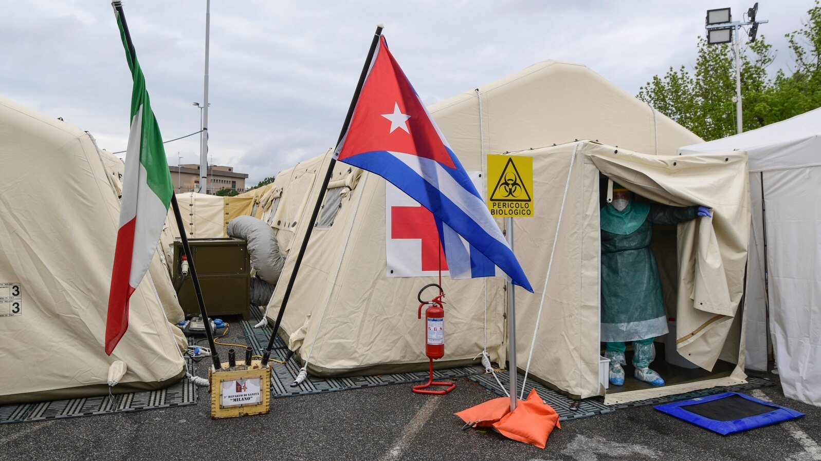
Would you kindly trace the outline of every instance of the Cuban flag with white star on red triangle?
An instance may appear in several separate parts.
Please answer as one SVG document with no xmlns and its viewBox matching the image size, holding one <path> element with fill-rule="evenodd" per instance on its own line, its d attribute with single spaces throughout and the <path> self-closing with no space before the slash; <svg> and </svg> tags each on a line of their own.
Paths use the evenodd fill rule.
<svg viewBox="0 0 821 461">
<path fill-rule="evenodd" d="M 452 278 L 502 275 L 533 292 L 384 36 L 379 37 L 351 123 L 334 155 L 382 176 L 433 213 Z"/>
</svg>

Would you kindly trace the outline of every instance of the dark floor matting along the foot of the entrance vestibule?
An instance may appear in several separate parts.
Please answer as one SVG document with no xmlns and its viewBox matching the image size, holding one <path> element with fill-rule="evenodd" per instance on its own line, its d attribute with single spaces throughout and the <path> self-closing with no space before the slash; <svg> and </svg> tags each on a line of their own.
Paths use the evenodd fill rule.
<svg viewBox="0 0 821 461">
<path fill-rule="evenodd" d="M 499 377 L 499 381 L 502 381 L 502 386 L 507 389 L 508 383 L 510 382 L 507 377 L 507 372 L 496 373 L 496 376 Z M 517 389 L 519 389 L 520 392 L 522 377 L 523 376 L 521 374 L 517 375 Z M 475 375 L 471 376 L 470 380 L 478 382 L 485 389 L 493 390 L 493 392 L 498 395 L 504 395 L 504 392 L 499 389 L 498 383 L 491 375 Z M 722 392 L 741 392 L 744 390 L 753 390 L 768 386 L 775 386 L 775 383 L 766 378 L 747 377 L 747 382 L 745 384 L 737 384 L 735 386 L 718 386 L 710 389 L 693 390 L 684 394 L 665 395 L 654 399 L 636 400 L 635 402 L 629 402 L 626 404 L 605 405 L 602 397 L 590 397 L 589 399 L 581 400 L 571 399 L 566 395 L 559 394 L 555 390 L 549 389 L 548 387 L 542 386 L 538 382 L 529 379 L 527 380 L 527 384 L 525 386 L 525 398 L 530 393 L 530 390 L 535 388 L 536 392 L 539 394 L 539 397 L 553 407 L 553 409 L 556 410 L 556 413 L 559 414 L 559 421 L 566 421 L 568 419 L 587 418 L 597 414 L 611 413 L 617 409 L 629 409 L 643 405 L 667 404 L 669 402 L 677 402 L 679 400 L 695 399 L 695 397 L 703 397 L 704 395 L 720 394 Z"/>
</svg>

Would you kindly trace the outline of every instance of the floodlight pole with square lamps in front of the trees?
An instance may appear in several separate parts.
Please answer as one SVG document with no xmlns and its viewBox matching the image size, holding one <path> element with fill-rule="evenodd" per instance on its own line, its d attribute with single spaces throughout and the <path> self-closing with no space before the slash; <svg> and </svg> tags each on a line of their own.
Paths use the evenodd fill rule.
<svg viewBox="0 0 821 461">
<path fill-rule="evenodd" d="M 759 24 L 764 24 L 769 21 L 755 21 L 755 14 L 759 11 L 759 3 L 755 2 L 752 8 L 747 10 L 747 19 L 750 21 L 736 21 L 732 22 L 732 15 L 730 8 L 718 8 L 715 10 L 707 10 L 707 20 L 705 29 L 707 30 L 707 44 L 717 45 L 720 43 L 734 42 L 733 51 L 736 55 L 736 130 L 738 133 L 743 131 L 741 125 L 741 40 L 738 38 L 738 30 L 742 25 L 752 25 L 748 36 L 750 41 L 755 41 L 755 34 L 759 31 Z M 732 34 L 736 35 L 736 39 L 732 39 Z"/>
</svg>

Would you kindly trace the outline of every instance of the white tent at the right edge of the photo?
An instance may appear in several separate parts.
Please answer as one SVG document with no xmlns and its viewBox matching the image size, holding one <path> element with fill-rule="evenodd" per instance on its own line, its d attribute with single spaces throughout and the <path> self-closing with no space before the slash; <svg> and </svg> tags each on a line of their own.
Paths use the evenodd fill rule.
<svg viewBox="0 0 821 461">
<path fill-rule="evenodd" d="M 821 109 L 679 151 L 733 149 L 750 156 L 747 365 L 767 369 L 769 330 L 784 395 L 821 405 Z"/>
</svg>

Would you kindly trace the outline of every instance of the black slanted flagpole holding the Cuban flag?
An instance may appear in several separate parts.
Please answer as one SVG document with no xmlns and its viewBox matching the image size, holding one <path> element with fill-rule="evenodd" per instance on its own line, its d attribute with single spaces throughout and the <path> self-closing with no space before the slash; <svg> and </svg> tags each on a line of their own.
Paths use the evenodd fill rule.
<svg viewBox="0 0 821 461">
<path fill-rule="evenodd" d="M 365 65 L 362 66 L 362 74 L 360 75 L 360 81 L 356 84 L 356 90 L 354 91 L 354 96 L 351 98 L 351 107 L 348 107 L 348 115 L 345 116 L 345 123 L 342 124 L 342 131 L 339 133 L 339 139 L 337 140 L 337 146 L 339 143 L 342 142 L 342 137 L 345 136 L 345 133 L 348 129 L 348 124 L 351 123 L 351 117 L 354 114 L 354 108 L 356 107 L 356 101 L 359 99 L 360 92 L 362 91 L 362 85 L 365 84 L 365 76 L 368 75 L 368 69 L 370 68 L 370 62 L 374 58 L 374 52 L 376 51 L 376 46 L 379 43 L 379 37 L 382 35 L 383 25 L 376 26 L 376 32 L 374 33 L 374 40 L 370 43 L 370 49 L 368 51 L 368 57 L 365 58 Z M 331 162 L 328 163 L 328 171 L 325 173 L 325 179 L 322 182 L 322 187 L 319 188 L 319 196 L 316 199 L 316 204 L 314 205 L 314 212 L 311 214 L 310 221 L 308 222 L 308 229 L 305 230 L 305 238 L 302 239 L 302 244 L 300 245 L 300 252 L 296 254 L 296 262 L 294 263 L 294 268 L 291 271 L 291 278 L 288 280 L 288 286 L 285 289 L 285 295 L 282 297 L 282 305 L 279 308 L 279 313 L 277 313 L 277 320 L 273 323 L 273 331 L 271 331 L 271 337 L 268 339 L 268 347 L 265 348 L 262 354 L 262 366 L 268 364 L 268 359 L 271 358 L 271 349 L 273 349 L 273 340 L 277 337 L 277 331 L 279 330 L 279 325 L 282 323 L 282 315 L 285 313 L 285 308 L 288 304 L 288 298 L 291 297 L 291 290 L 294 287 L 294 281 L 296 281 L 296 274 L 300 270 L 300 264 L 302 263 L 302 257 L 305 256 L 305 249 L 308 247 L 308 240 L 310 239 L 311 232 L 314 230 L 314 223 L 316 222 L 316 217 L 319 215 L 319 208 L 322 208 L 322 202 L 325 198 L 325 189 L 328 188 L 328 182 L 331 180 L 331 176 L 333 175 L 333 167 L 337 164 L 337 160 L 331 157 Z"/>
</svg>

